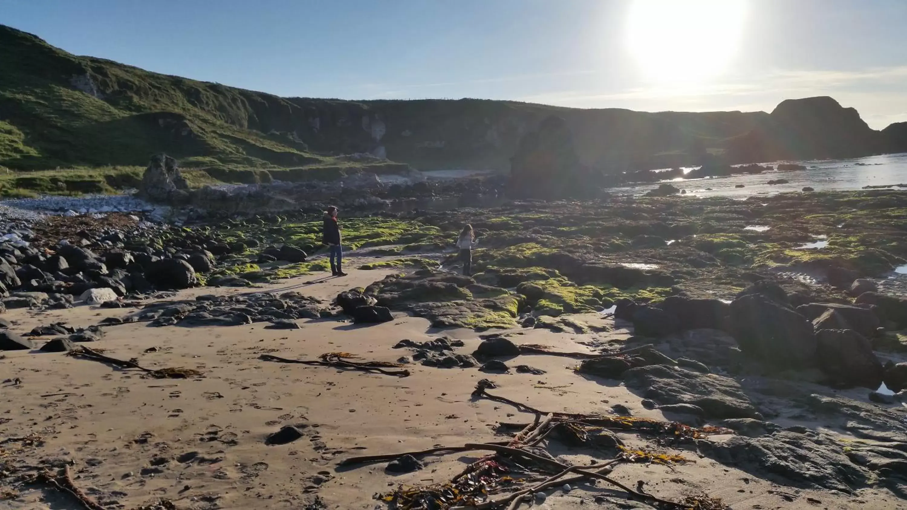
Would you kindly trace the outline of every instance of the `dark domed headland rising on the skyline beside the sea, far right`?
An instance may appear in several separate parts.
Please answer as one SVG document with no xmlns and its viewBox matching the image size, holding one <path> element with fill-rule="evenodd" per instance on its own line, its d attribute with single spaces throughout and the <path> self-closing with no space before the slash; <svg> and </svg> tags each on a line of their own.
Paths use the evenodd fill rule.
<svg viewBox="0 0 907 510">
<path fill-rule="evenodd" d="M 782 101 L 762 126 L 727 143 L 732 161 L 844 159 L 883 152 L 883 138 L 830 97 Z"/>
</svg>

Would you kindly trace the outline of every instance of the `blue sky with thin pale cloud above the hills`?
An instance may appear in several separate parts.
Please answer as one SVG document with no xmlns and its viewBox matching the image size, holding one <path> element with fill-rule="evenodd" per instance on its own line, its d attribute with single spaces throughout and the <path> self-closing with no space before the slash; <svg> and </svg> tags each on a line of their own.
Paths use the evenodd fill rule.
<svg viewBox="0 0 907 510">
<path fill-rule="evenodd" d="M 659 1 L 684 11 L 665 25 Z M 653 23 L 630 23 L 644 3 Z M 831 95 L 876 129 L 907 120 L 904 0 L 0 0 L 0 24 L 283 96 L 771 111 Z"/>
</svg>

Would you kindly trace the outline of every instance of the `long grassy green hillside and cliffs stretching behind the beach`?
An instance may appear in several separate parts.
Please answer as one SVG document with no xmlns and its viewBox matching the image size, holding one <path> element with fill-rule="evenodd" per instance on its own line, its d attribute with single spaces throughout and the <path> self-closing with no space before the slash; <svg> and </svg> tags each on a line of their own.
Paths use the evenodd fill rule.
<svg viewBox="0 0 907 510">
<path fill-rule="evenodd" d="M 741 161 L 767 158 L 770 151 L 749 150 L 753 137 L 747 135 L 767 133 L 763 140 L 777 131 L 762 111 L 280 98 L 73 55 L 5 25 L 0 48 L 0 167 L 117 167 L 104 175 L 121 177 L 105 178 L 96 188 L 132 175 L 161 151 L 184 168 L 203 171 L 196 176 L 200 182 L 255 182 L 275 172 L 288 180 L 323 178 L 342 168 L 398 171 L 407 164 L 506 171 L 522 136 L 549 115 L 567 121 L 580 161 L 606 172 L 695 164 L 703 149 L 735 149 Z M 816 119 L 814 124 L 827 123 Z M 340 157 L 354 153 L 386 160 Z M 53 181 L 59 178 L 49 174 L 52 180 L 43 186 L 60 188 Z M 4 182 L 0 178 L 0 187 Z"/>
</svg>

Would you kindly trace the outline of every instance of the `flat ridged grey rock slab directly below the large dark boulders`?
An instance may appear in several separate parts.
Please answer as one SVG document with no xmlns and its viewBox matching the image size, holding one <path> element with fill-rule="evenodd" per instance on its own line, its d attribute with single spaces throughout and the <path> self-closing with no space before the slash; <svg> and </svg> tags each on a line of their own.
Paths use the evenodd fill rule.
<svg viewBox="0 0 907 510">
<path fill-rule="evenodd" d="M 661 405 L 693 404 L 707 418 L 757 418 L 756 408 L 736 380 L 667 365 L 629 369 L 623 380 L 642 397 Z"/>
</svg>

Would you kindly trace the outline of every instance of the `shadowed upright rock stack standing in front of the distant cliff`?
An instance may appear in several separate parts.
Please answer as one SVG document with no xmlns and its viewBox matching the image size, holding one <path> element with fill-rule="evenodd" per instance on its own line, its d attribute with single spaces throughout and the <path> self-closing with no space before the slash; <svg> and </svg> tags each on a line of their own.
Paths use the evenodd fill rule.
<svg viewBox="0 0 907 510">
<path fill-rule="evenodd" d="M 522 137 L 511 158 L 508 194 L 512 197 L 576 197 L 590 191 L 591 173 L 584 168 L 567 121 L 551 116 L 538 130 Z"/>
</svg>

